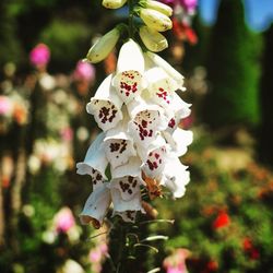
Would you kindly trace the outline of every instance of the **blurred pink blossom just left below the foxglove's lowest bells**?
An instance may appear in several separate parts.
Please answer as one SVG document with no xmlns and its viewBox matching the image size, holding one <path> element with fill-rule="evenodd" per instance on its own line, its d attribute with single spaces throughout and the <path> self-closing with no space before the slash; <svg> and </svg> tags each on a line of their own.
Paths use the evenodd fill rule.
<svg viewBox="0 0 273 273">
<path fill-rule="evenodd" d="M 54 223 L 57 232 L 68 233 L 75 225 L 75 219 L 71 210 L 64 206 L 55 215 Z"/>
</svg>

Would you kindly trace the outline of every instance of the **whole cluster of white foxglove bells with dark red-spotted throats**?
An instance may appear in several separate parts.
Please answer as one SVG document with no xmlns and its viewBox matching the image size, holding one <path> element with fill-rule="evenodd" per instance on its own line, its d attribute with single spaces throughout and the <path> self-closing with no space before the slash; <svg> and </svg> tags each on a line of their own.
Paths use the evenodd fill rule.
<svg viewBox="0 0 273 273">
<path fill-rule="evenodd" d="M 150 5 L 140 14 L 149 13 Z M 121 46 L 115 73 L 86 106 L 103 132 L 76 164 L 78 174 L 90 175 L 93 186 L 80 215 L 83 224 L 100 227 L 110 206 L 112 215 L 134 222 L 138 212 L 144 213 L 143 197 L 183 195 L 190 178 L 179 156 L 192 132 L 180 127 L 190 115 L 179 96 L 182 85 L 183 76 L 158 55 L 144 52 L 132 38 Z"/>
</svg>

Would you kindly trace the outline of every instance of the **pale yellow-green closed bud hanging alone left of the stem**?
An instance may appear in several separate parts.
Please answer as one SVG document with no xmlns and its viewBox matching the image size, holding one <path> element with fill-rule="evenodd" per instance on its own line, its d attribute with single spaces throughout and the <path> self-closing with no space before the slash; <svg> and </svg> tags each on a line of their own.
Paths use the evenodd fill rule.
<svg viewBox="0 0 273 273">
<path fill-rule="evenodd" d="M 88 50 L 86 60 L 92 63 L 97 63 L 104 60 L 116 46 L 121 29 L 122 28 L 120 26 L 116 26 L 110 32 L 106 33 L 103 37 L 98 38 L 97 41 Z"/>
</svg>

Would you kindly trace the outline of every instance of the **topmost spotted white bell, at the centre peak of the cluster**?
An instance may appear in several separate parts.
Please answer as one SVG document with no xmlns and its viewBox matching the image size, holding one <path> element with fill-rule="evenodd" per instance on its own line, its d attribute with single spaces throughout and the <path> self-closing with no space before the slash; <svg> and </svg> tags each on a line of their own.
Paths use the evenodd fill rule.
<svg viewBox="0 0 273 273">
<path fill-rule="evenodd" d="M 140 46 L 129 39 L 119 51 L 117 73 L 112 81 L 118 95 L 126 104 L 138 97 L 145 87 L 144 64 Z"/>
</svg>

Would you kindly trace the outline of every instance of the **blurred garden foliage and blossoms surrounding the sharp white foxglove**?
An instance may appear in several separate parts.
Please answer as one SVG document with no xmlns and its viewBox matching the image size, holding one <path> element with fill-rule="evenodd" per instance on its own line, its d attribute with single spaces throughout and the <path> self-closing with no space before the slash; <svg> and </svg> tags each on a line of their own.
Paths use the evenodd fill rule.
<svg viewBox="0 0 273 273">
<path fill-rule="evenodd" d="M 245 2 L 218 2 L 214 25 L 197 12 L 198 43 L 168 33 L 164 57 L 186 75 L 192 104 L 182 124 L 194 132 L 182 158 L 191 182 L 181 200 L 152 202 L 175 224 L 139 229 L 141 238 L 169 240 L 154 244 L 158 253 L 136 252 L 143 262 L 132 272 L 165 272 L 167 256 L 189 272 L 273 272 L 273 24 L 254 32 Z M 0 1 L 1 273 L 109 272 L 107 237 L 90 240 L 97 232 L 76 217 L 92 189 L 75 163 L 97 133 L 85 105 L 116 56 L 87 81 L 74 70 L 92 40 L 121 20 L 100 1 Z M 44 68 L 28 60 L 38 43 L 51 52 Z"/>
</svg>

